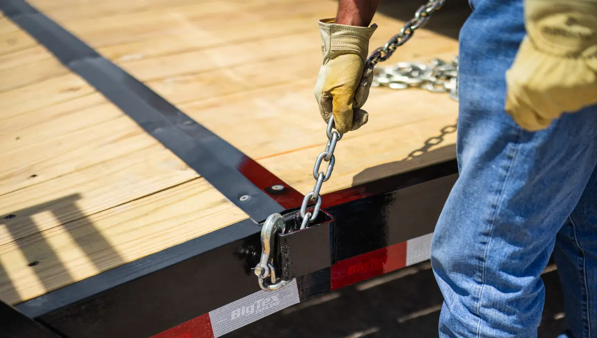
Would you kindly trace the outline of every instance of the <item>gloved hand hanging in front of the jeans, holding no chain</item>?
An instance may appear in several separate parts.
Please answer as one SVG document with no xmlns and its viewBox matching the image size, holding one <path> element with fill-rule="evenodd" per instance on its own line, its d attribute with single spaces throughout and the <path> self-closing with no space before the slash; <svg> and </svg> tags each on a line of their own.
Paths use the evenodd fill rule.
<svg viewBox="0 0 597 338">
<path fill-rule="evenodd" d="M 527 36 L 506 72 L 506 111 L 522 128 L 597 103 L 597 0 L 525 0 Z"/>
</svg>

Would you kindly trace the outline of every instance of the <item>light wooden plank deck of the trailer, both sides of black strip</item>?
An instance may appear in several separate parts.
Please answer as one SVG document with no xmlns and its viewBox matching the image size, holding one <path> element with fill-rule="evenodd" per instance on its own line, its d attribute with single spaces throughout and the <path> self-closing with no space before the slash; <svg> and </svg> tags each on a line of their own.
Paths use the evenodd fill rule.
<svg viewBox="0 0 597 338">
<path fill-rule="evenodd" d="M 327 142 L 312 94 L 316 20 L 336 1 L 30 3 L 291 187 L 312 190 Z M 402 20 L 378 13 L 371 49 L 418 5 L 396 10 Z M 466 15 L 446 8 L 431 23 L 454 32 Z M 451 60 L 457 48 L 424 28 L 387 63 Z M 338 142 L 322 193 L 454 157 L 456 133 L 441 135 L 456 124 L 447 94 L 372 88 L 364 108 L 370 121 Z M 12 304 L 247 218 L 4 16 L 0 163 L 0 299 Z"/>
</svg>

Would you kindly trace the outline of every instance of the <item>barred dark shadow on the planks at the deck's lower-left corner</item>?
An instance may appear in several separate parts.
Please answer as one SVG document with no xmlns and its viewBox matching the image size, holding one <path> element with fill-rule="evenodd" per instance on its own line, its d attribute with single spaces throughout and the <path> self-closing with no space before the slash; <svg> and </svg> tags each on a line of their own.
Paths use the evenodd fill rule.
<svg viewBox="0 0 597 338">
<path fill-rule="evenodd" d="M 20 281 L 16 280 L 14 275 L 19 274 L 19 269 L 32 269 L 39 281 L 39 286 L 45 289 L 44 293 L 74 283 L 76 278 L 63 262 L 69 256 L 69 251 L 74 249 L 72 244 L 85 253 L 88 261 L 98 271 L 114 266 L 115 263 L 117 265 L 124 263 L 122 256 L 78 208 L 76 201 L 80 199 L 81 195 L 72 194 L 0 216 L 0 228 L 4 227 L 8 230 L 8 234 L 19 247 L 18 255 L 26 260 L 23 262 L 23 266 L 19 266 L 17 269 L 15 266 L 7 269 L 7 262 L 0 260 L 0 299 L 11 305 L 16 305 L 21 300 L 19 289 L 30 287 L 29 284 L 32 281 L 27 281 L 27 285 L 17 286 Z M 33 217 L 46 212 L 50 212 L 60 224 L 61 229 L 57 229 L 57 227 L 54 229 L 66 232 L 69 235 L 69 240 L 50 242 L 44 236 L 44 232 L 53 230 L 39 231 Z M 30 234 L 30 231 L 25 232 L 26 229 L 36 229 L 36 232 Z M 57 251 L 63 252 L 63 255 L 57 255 Z M 15 257 L 15 255 L 8 256 L 13 259 Z M 12 265 L 14 262 L 10 262 L 10 264 Z"/>
</svg>

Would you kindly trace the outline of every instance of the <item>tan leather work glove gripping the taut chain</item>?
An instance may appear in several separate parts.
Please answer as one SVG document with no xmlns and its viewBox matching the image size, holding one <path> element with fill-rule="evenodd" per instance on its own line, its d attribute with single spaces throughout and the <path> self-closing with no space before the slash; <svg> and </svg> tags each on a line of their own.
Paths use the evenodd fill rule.
<svg viewBox="0 0 597 338">
<path fill-rule="evenodd" d="M 367 111 L 361 107 L 369 96 L 373 69 L 365 69 L 365 60 L 377 26 L 347 26 L 334 20 L 319 20 L 324 58 L 314 92 L 325 122 L 334 114 L 336 130 L 344 134 L 367 123 Z"/>
</svg>

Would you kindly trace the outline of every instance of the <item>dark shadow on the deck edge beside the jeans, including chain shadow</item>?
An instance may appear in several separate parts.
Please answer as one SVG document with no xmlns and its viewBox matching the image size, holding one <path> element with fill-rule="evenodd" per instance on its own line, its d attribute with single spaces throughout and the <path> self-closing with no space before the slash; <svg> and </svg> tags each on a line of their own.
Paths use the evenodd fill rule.
<svg viewBox="0 0 597 338">
<path fill-rule="evenodd" d="M 381 177 L 396 175 L 397 173 L 414 170 L 422 166 L 427 166 L 430 163 L 443 162 L 456 158 L 456 144 L 444 145 L 438 147 L 444 142 L 444 137 L 448 134 L 456 132 L 456 124 L 448 125 L 439 131 L 438 136 L 428 138 L 423 147 L 411 151 L 405 159 L 384 163 L 383 165 L 367 168 L 359 172 L 352 178 L 352 185 L 364 184 Z"/>
</svg>

